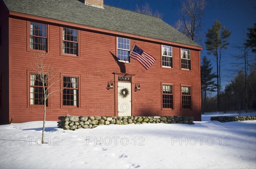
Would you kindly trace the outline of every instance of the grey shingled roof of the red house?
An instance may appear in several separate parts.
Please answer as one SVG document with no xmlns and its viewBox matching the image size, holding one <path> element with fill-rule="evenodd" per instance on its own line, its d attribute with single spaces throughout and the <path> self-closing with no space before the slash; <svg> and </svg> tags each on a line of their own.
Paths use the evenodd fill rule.
<svg viewBox="0 0 256 169">
<path fill-rule="evenodd" d="M 202 47 L 157 17 L 79 0 L 3 0 L 9 11 Z"/>
</svg>

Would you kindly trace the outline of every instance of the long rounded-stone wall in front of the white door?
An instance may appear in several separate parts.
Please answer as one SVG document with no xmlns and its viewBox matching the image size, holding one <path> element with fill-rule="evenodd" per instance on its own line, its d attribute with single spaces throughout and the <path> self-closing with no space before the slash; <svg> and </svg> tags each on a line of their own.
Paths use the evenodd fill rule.
<svg viewBox="0 0 256 169">
<path fill-rule="evenodd" d="M 58 127 L 64 130 L 76 130 L 79 128 L 95 128 L 108 124 L 143 124 L 143 123 L 167 123 L 167 124 L 194 124 L 194 117 L 189 116 L 75 116 L 58 117 Z"/>
</svg>

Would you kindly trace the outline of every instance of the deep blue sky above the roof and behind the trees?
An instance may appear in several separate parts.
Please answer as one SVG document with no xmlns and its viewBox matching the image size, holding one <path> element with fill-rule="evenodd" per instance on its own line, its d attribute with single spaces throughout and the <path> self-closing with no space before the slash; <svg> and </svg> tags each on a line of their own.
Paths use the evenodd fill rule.
<svg viewBox="0 0 256 169">
<path fill-rule="evenodd" d="M 181 5 L 179 0 L 104 0 L 104 2 L 111 6 L 133 11 L 135 10 L 136 3 L 143 4 L 146 2 L 153 11 L 157 10 L 164 14 L 163 20 L 172 26 L 179 17 L 178 11 Z M 223 62 L 221 63 L 221 86 L 224 90 L 230 80 L 236 76 L 236 73 L 230 70 L 239 68 L 238 65 L 233 64 L 234 62 L 239 62 L 233 57 L 233 55 L 239 54 L 235 46 L 243 38 L 246 38 L 247 28 L 253 27 L 253 23 L 256 23 L 256 0 L 206 0 L 206 4 L 203 27 L 198 43 L 204 47 L 204 50 L 201 51 L 201 57 L 207 56 L 212 61 L 213 71 L 216 71 L 215 57 L 207 55 L 204 45 L 205 32 L 207 32 L 207 28 L 212 27 L 215 19 L 232 31 L 229 39 L 230 45 L 224 51 Z M 255 54 L 251 54 L 251 57 L 255 57 Z"/>
</svg>

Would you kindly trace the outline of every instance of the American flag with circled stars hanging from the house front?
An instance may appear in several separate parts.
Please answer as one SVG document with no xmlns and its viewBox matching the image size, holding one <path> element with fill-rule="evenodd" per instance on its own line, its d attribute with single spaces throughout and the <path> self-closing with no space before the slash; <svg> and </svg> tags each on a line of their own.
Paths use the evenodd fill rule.
<svg viewBox="0 0 256 169">
<path fill-rule="evenodd" d="M 136 59 L 138 62 L 140 62 L 140 64 L 143 65 L 146 70 L 148 70 L 156 61 L 153 56 L 144 52 L 137 45 L 134 45 L 131 53 L 129 54 L 129 57 Z"/>
</svg>

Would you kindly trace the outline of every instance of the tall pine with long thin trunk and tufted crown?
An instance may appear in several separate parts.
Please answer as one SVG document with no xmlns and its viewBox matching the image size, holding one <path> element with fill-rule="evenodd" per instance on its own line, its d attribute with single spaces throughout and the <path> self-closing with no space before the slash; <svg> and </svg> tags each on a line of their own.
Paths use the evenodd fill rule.
<svg viewBox="0 0 256 169">
<path fill-rule="evenodd" d="M 207 54 L 216 56 L 217 62 L 217 109 L 220 108 L 220 94 L 221 94 L 221 49 L 227 49 L 229 42 L 227 39 L 230 37 L 231 31 L 223 27 L 222 24 L 215 20 L 212 28 L 208 28 L 206 33 L 207 40 L 205 41 Z"/>
</svg>

